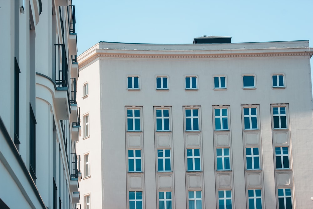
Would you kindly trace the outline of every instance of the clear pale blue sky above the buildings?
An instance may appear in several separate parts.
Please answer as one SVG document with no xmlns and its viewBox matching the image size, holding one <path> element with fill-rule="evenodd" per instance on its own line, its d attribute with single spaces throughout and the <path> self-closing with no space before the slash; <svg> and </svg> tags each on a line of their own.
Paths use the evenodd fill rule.
<svg viewBox="0 0 313 209">
<path fill-rule="evenodd" d="M 313 0 L 73 0 L 73 4 L 78 55 L 99 41 L 191 44 L 202 35 L 232 36 L 232 43 L 310 40 L 313 47 Z"/>
</svg>

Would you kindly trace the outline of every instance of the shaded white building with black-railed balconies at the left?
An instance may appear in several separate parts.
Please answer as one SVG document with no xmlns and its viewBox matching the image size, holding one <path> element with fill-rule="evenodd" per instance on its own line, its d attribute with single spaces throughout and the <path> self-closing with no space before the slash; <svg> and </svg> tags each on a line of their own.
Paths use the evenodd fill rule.
<svg viewBox="0 0 313 209">
<path fill-rule="evenodd" d="M 79 208 L 71 0 L 0 0 L 0 208 Z"/>
</svg>

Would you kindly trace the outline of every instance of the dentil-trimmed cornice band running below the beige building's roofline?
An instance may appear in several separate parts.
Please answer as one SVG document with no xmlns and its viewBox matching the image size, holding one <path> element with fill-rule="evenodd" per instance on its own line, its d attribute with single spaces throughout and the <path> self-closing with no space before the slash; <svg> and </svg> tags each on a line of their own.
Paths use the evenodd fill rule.
<svg viewBox="0 0 313 209">
<path fill-rule="evenodd" d="M 204 59 L 204 58 L 246 58 L 246 57 L 280 57 L 280 56 L 312 56 L 312 52 L 281 52 L 281 53 L 237 53 L 237 54 L 188 54 L 188 55 L 156 55 L 156 54 L 113 54 L 98 52 L 89 59 L 80 62 L 79 68 L 87 65 L 98 57 L 135 58 L 135 59 Z"/>
</svg>

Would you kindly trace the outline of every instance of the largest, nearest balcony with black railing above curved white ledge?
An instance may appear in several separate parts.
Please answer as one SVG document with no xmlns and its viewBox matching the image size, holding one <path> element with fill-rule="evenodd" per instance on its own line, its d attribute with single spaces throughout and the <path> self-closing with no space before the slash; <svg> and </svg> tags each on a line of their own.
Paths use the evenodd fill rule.
<svg viewBox="0 0 313 209">
<path fill-rule="evenodd" d="M 55 46 L 55 110 L 58 120 L 69 120 L 70 98 L 69 89 L 71 82 L 69 82 L 69 67 L 67 63 L 67 56 L 64 44 L 54 44 Z"/>
</svg>

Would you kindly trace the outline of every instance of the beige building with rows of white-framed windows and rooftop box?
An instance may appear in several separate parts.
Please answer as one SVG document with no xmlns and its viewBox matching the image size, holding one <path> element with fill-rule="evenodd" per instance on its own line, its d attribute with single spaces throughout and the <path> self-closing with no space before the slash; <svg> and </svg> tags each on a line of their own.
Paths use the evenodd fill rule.
<svg viewBox="0 0 313 209">
<path fill-rule="evenodd" d="M 230 40 L 78 57 L 85 209 L 313 208 L 309 41 Z"/>
</svg>

